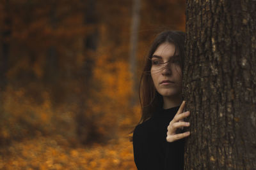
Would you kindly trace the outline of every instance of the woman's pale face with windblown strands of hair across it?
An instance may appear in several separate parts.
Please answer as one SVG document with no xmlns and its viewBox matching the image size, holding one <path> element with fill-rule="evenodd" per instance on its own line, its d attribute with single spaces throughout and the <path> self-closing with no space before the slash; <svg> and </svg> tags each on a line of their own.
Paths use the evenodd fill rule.
<svg viewBox="0 0 256 170">
<path fill-rule="evenodd" d="M 182 71 L 179 53 L 175 53 L 175 45 L 163 43 L 152 55 L 150 73 L 157 92 L 163 97 L 180 96 Z"/>
</svg>

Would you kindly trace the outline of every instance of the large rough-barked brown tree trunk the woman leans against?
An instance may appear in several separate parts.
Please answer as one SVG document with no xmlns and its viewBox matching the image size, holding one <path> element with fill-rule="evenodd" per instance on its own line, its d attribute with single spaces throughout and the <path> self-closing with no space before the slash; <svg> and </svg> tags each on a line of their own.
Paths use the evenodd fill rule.
<svg viewBox="0 0 256 170">
<path fill-rule="evenodd" d="M 185 169 L 256 167 L 256 1 L 187 1 Z"/>
</svg>

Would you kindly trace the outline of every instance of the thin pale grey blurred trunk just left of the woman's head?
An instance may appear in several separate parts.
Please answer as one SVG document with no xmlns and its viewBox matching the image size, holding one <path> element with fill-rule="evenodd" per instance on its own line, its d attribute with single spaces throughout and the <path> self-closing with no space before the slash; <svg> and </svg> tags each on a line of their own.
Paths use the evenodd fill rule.
<svg viewBox="0 0 256 170">
<path fill-rule="evenodd" d="M 137 77 L 137 48 L 138 48 L 138 31 L 140 27 L 140 2 L 141 0 L 133 0 L 132 22 L 131 22 L 131 40 L 130 40 L 130 69 L 132 76 L 132 92 L 138 94 L 138 77 Z M 137 101 L 137 96 L 132 95 L 131 106 Z"/>
</svg>

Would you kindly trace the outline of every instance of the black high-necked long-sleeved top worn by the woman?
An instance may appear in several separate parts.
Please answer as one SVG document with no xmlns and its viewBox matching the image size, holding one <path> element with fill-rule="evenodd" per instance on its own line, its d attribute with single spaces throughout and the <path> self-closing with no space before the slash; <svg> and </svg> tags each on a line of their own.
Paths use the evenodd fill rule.
<svg viewBox="0 0 256 170">
<path fill-rule="evenodd" d="M 168 143 L 167 127 L 179 107 L 161 110 L 135 127 L 132 141 L 138 170 L 183 169 L 184 139 Z"/>
</svg>

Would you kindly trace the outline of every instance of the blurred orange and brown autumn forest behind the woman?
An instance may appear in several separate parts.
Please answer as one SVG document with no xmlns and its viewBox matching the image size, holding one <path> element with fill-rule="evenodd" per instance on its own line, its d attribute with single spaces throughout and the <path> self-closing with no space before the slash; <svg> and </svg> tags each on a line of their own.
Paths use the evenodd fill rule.
<svg viewBox="0 0 256 170">
<path fill-rule="evenodd" d="M 143 59 L 185 0 L 136 1 L 1 0 L 0 169 L 136 169 Z"/>
</svg>

